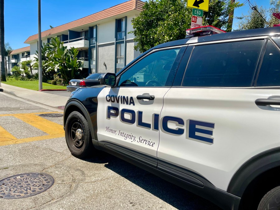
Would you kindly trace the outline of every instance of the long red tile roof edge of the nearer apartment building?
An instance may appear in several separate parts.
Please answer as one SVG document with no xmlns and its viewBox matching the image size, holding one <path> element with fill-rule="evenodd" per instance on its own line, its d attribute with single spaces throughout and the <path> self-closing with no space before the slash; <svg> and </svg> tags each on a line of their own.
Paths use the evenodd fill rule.
<svg viewBox="0 0 280 210">
<path fill-rule="evenodd" d="M 65 30 L 69 30 L 71 28 L 75 28 L 78 26 L 83 26 L 88 23 L 92 23 L 95 21 L 99 21 L 108 17 L 113 17 L 125 12 L 129 12 L 131 10 L 138 10 L 142 11 L 142 7 L 145 4 L 145 2 L 142 2 L 140 0 L 130 0 L 128 2 L 124 2 L 121 4 L 118 4 L 114 7 L 110 7 L 108 9 L 102 10 L 100 12 L 94 13 L 92 15 L 89 15 L 87 17 L 80 18 L 78 20 L 63 24 L 61 26 L 57 26 L 54 28 L 51 28 L 49 30 L 41 32 L 41 37 L 49 36 L 52 34 L 56 34 Z M 38 39 L 38 34 L 35 34 L 33 36 L 29 36 L 28 39 L 24 42 L 29 42 Z"/>
</svg>

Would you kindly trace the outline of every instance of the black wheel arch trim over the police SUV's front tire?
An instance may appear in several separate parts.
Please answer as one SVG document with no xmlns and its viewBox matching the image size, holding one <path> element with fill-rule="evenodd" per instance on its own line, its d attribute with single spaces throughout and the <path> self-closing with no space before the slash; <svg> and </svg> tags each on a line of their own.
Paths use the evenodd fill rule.
<svg viewBox="0 0 280 210">
<path fill-rule="evenodd" d="M 63 116 L 63 127 L 64 127 L 64 129 L 65 129 L 65 123 L 66 123 L 66 120 L 67 120 L 69 114 L 71 112 L 74 112 L 74 111 L 77 111 L 77 112 L 81 113 L 83 115 L 83 117 L 86 118 L 86 120 L 88 121 L 91 137 L 92 137 L 92 139 L 96 139 L 95 136 L 94 136 L 94 134 L 95 134 L 94 131 L 95 130 L 93 128 L 93 124 L 91 122 L 91 118 L 90 118 L 90 115 L 88 113 L 88 110 L 78 100 L 73 99 L 73 100 L 69 101 L 64 108 L 64 116 Z"/>
</svg>

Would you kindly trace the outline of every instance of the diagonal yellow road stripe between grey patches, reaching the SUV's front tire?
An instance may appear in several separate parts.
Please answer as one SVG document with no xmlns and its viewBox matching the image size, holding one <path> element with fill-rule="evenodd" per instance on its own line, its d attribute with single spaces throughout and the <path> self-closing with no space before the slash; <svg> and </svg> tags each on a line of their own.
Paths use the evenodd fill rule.
<svg viewBox="0 0 280 210">
<path fill-rule="evenodd" d="M 49 135 L 64 133 L 62 125 L 46 120 L 45 118 L 35 114 L 15 114 L 14 117 L 17 117 L 23 122 L 26 122 Z"/>
</svg>

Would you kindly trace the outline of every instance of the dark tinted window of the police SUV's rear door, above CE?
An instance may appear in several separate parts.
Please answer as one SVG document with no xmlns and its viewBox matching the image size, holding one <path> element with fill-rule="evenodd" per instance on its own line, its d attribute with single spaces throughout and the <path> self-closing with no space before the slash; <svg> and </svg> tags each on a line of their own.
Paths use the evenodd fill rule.
<svg viewBox="0 0 280 210">
<path fill-rule="evenodd" d="M 196 46 L 182 86 L 250 87 L 263 40 Z"/>
</svg>

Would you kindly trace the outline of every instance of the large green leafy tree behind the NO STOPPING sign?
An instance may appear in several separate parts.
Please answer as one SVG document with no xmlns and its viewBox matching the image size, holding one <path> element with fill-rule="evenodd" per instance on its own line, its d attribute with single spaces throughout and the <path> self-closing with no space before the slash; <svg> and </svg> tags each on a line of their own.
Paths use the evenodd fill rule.
<svg viewBox="0 0 280 210">
<path fill-rule="evenodd" d="M 192 9 L 186 0 L 148 0 L 138 17 L 132 19 L 135 50 L 146 50 L 164 42 L 183 39 L 190 28 Z M 204 12 L 203 25 L 226 29 L 229 12 L 241 6 L 230 0 L 210 0 L 209 12 Z"/>
</svg>

